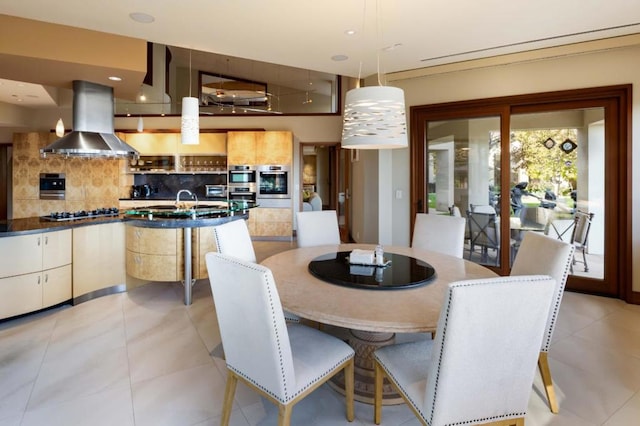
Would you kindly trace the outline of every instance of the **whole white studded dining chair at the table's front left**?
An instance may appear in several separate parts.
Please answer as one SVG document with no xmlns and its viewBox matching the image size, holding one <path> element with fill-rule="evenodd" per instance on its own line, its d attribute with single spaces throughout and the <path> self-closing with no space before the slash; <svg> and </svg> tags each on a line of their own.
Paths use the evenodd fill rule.
<svg viewBox="0 0 640 426">
<path fill-rule="evenodd" d="M 278 425 L 288 426 L 294 404 L 341 371 L 353 421 L 353 349 L 319 330 L 287 325 L 267 267 L 220 253 L 205 258 L 227 364 L 220 424 L 229 424 L 238 380 L 276 404 Z"/>
</svg>

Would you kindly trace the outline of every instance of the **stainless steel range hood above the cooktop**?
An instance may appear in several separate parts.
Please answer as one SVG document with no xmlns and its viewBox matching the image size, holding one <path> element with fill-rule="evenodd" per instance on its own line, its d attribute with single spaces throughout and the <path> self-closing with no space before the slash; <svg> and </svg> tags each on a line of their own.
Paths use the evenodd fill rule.
<svg viewBox="0 0 640 426">
<path fill-rule="evenodd" d="M 73 131 L 40 150 L 43 157 L 137 158 L 113 131 L 113 88 L 88 81 L 73 82 Z"/>
</svg>

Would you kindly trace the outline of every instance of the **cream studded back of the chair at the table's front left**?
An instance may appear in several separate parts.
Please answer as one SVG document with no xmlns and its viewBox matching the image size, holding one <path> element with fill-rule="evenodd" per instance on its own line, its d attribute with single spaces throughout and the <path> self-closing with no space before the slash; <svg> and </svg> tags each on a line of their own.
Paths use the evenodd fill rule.
<svg viewBox="0 0 640 426">
<path fill-rule="evenodd" d="M 271 271 L 219 253 L 207 253 L 206 261 L 227 368 L 278 401 L 290 400 L 293 360 Z"/>
</svg>

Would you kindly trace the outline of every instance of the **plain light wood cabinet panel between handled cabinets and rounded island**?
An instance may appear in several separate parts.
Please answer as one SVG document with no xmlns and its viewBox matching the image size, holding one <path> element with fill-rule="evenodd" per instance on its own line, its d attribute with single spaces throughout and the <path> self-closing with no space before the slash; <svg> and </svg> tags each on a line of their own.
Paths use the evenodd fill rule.
<svg viewBox="0 0 640 426">
<path fill-rule="evenodd" d="M 73 230 L 73 298 L 126 283 L 122 222 Z"/>
</svg>

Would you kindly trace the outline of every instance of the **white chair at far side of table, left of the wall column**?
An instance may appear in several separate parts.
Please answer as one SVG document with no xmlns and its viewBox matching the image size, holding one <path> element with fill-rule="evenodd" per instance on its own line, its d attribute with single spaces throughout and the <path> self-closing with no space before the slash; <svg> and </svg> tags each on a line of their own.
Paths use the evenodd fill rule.
<svg viewBox="0 0 640 426">
<path fill-rule="evenodd" d="M 296 212 L 298 247 L 340 244 L 338 215 L 335 210 Z"/>
</svg>

